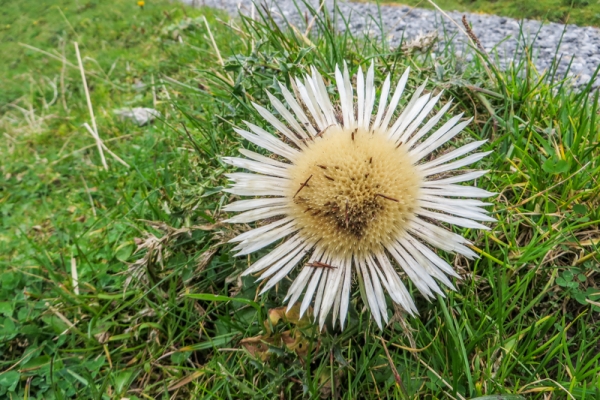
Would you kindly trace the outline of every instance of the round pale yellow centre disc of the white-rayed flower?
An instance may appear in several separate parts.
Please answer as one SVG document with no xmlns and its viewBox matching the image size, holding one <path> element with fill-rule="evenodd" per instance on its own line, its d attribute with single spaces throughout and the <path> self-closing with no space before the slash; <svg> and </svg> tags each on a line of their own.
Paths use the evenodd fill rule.
<svg viewBox="0 0 600 400">
<path fill-rule="evenodd" d="M 291 216 L 333 254 L 372 254 L 401 237 L 422 177 L 387 132 L 331 126 L 290 167 Z"/>
</svg>

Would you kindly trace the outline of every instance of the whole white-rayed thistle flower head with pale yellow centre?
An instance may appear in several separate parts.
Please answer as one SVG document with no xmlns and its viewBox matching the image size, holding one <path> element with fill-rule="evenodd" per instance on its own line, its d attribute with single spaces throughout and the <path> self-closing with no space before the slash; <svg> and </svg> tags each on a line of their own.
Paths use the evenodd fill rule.
<svg viewBox="0 0 600 400">
<path fill-rule="evenodd" d="M 482 208 L 489 203 L 469 199 L 492 193 L 457 184 L 486 172 L 456 173 L 489 153 L 465 156 L 485 141 L 432 158 L 470 120 L 460 122 L 462 115 L 458 115 L 434 130 L 450 104 L 426 121 L 441 93 L 423 94 L 425 84 L 393 119 L 408 73 L 400 78 L 391 99 L 387 76 L 373 115 L 373 65 L 366 77 L 358 70 L 355 89 L 347 66 L 343 74 L 336 67 L 339 104 L 332 103 L 322 76 L 313 67 L 312 75 L 293 82 L 296 95 L 279 85 L 287 107 L 267 93 L 281 120 L 254 104 L 281 139 L 250 122 L 246 122 L 249 131 L 236 129 L 273 156 L 240 149 L 247 158 L 224 158 L 253 172 L 228 174 L 234 185 L 227 191 L 255 197 L 227 205 L 226 211 L 242 213 L 226 222 L 269 221 L 232 239 L 239 243 L 234 249 L 237 255 L 281 241 L 245 274 L 262 271 L 260 279 L 268 279 L 264 293 L 300 266 L 286 296 L 288 307 L 304 293 L 303 314 L 314 297 L 314 314 L 321 327 L 332 308 L 334 325 L 339 316 L 344 326 L 354 273 L 379 327 L 382 319 L 388 321 L 384 289 L 394 302 L 416 313 L 397 268 L 425 297 L 443 296 L 438 282 L 453 289 L 447 275 L 458 275 L 432 247 L 467 258 L 477 256 L 466 239 L 439 223 L 488 229 L 477 221 L 494 221 Z"/>
</svg>

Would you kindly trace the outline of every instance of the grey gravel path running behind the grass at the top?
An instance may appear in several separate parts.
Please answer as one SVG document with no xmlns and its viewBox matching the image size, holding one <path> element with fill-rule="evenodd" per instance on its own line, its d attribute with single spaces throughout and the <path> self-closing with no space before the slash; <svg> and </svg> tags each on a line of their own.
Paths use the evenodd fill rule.
<svg viewBox="0 0 600 400">
<path fill-rule="evenodd" d="M 231 15 L 237 15 L 239 11 L 250 14 L 252 9 L 251 0 L 182 1 L 188 4 L 224 9 Z M 265 4 L 273 11 L 274 15 L 283 14 L 298 26 L 304 26 L 304 18 L 298 14 L 293 0 L 256 0 L 256 3 Z M 318 0 L 309 0 L 309 3 L 318 8 Z M 326 0 L 326 6 L 332 10 L 333 0 Z M 438 31 L 440 38 L 444 38 L 444 35 L 452 37 L 457 31 L 452 22 L 439 12 L 432 10 L 387 5 L 380 7 L 380 13 L 375 4 L 346 1 L 338 1 L 338 8 L 345 18 L 349 18 L 351 31 L 358 34 L 368 30 L 371 34 L 378 36 L 381 32 L 375 21 L 379 21 L 381 15 L 385 35 L 391 45 L 400 43 L 402 36 L 405 40 L 406 38 L 410 40 L 419 34 Z M 448 14 L 460 23 L 465 13 L 450 12 Z M 539 21 L 518 21 L 495 15 L 466 13 L 466 16 L 486 51 L 491 54 L 498 53 L 500 66 L 506 65 L 515 52 L 522 49 L 525 42 L 531 43 L 534 38 L 534 63 L 539 71 L 548 69 L 555 55 L 558 54 L 558 57 L 561 57 L 558 68 L 559 75 L 564 75 L 567 66 L 571 63 L 568 74 L 575 78 L 577 85 L 580 85 L 587 83 L 600 65 L 600 30 L 597 28 L 565 26 L 557 23 L 541 24 Z M 340 28 L 344 28 L 341 18 L 339 25 Z M 557 53 L 556 47 L 563 31 L 562 43 Z M 458 51 L 462 52 L 466 49 L 463 34 L 458 33 L 453 37 L 455 48 Z M 595 80 L 594 86 L 600 86 L 600 78 Z"/>
</svg>

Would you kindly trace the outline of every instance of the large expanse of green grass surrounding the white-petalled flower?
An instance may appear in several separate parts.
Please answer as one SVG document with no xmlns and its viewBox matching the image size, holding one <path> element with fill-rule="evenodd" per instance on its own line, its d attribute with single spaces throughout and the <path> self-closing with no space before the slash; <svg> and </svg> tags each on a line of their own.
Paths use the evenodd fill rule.
<svg viewBox="0 0 600 400">
<path fill-rule="evenodd" d="M 523 60 L 488 73 L 451 48 L 408 57 L 148 3 L 2 10 L 0 398 L 600 398 L 597 92 L 552 84 Z M 77 65 L 73 41 L 100 135 L 130 168 L 107 155 L 104 170 L 81 127 L 80 72 L 59 61 Z M 219 156 L 248 145 L 232 126 L 262 124 L 250 102 L 278 92 L 275 77 L 309 64 L 330 75 L 344 59 L 352 70 L 374 59 L 378 81 L 410 65 L 410 87 L 429 78 L 455 98 L 451 114 L 474 116 L 457 140 L 494 150 L 478 185 L 499 193 L 498 223 L 458 230 L 482 257 L 442 254 L 464 279 L 434 303 L 411 290 L 419 318 L 398 311 L 379 331 L 355 288 L 346 329 L 319 334 L 276 321 L 290 281 L 257 297 L 240 278 L 256 256 L 234 259 L 224 244 L 236 228 L 219 223 Z M 145 127 L 112 112 L 155 103 L 163 118 Z"/>
</svg>

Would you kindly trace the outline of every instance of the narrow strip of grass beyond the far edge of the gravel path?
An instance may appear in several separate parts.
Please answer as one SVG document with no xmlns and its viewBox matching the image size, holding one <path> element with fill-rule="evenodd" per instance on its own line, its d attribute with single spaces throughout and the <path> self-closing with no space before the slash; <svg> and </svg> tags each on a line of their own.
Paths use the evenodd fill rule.
<svg viewBox="0 0 600 400">
<path fill-rule="evenodd" d="M 382 3 L 433 8 L 427 0 L 385 0 Z M 518 20 L 526 18 L 579 26 L 600 26 L 600 2 L 596 0 L 439 0 L 435 3 L 448 11 L 495 14 Z"/>
</svg>

